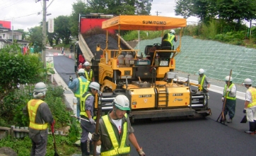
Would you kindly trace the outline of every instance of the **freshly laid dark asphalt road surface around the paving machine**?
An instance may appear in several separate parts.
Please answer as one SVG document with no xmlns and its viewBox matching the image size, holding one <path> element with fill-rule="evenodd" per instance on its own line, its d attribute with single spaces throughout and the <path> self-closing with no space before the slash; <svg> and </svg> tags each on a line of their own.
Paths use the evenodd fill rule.
<svg viewBox="0 0 256 156">
<path fill-rule="evenodd" d="M 54 68 L 67 83 L 74 76 L 74 61 L 54 56 Z M 243 100 L 237 100 L 233 123 L 227 126 L 216 121 L 221 113 L 221 95 L 209 92 L 211 116 L 202 119 L 144 119 L 132 124 L 134 134 L 147 156 L 169 155 L 256 155 L 256 135 L 244 133 L 249 126 L 240 124 Z M 131 155 L 138 155 L 132 146 Z"/>
</svg>

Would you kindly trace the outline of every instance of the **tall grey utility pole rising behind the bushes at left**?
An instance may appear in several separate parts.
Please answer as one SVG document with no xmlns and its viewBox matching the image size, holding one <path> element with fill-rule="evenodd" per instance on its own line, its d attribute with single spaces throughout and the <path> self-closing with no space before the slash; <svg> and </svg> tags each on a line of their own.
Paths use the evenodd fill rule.
<svg viewBox="0 0 256 156">
<path fill-rule="evenodd" d="M 42 62 L 44 67 L 46 67 L 45 61 L 45 46 L 46 46 L 46 1 L 43 0 L 42 5 Z"/>
</svg>

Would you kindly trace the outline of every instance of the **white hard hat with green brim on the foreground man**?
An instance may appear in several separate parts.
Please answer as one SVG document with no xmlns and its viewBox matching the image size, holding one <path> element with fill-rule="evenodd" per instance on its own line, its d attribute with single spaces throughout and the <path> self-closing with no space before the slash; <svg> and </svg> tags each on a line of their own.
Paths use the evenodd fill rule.
<svg viewBox="0 0 256 156">
<path fill-rule="evenodd" d="M 113 101 L 113 104 L 115 104 L 115 107 L 121 109 L 122 111 L 131 110 L 129 107 L 129 99 L 125 95 L 117 95 Z"/>
</svg>

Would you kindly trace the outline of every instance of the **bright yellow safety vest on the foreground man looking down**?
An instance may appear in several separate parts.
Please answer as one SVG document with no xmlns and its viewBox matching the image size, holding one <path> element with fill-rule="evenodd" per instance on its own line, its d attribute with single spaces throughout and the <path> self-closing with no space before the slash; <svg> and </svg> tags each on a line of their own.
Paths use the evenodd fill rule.
<svg viewBox="0 0 256 156">
<path fill-rule="evenodd" d="M 124 114 L 124 116 L 127 117 L 127 114 Z M 131 148 L 125 144 L 127 140 L 127 122 L 124 122 L 124 126 L 122 126 L 122 138 L 121 138 L 121 143 L 119 143 L 117 141 L 118 136 L 115 136 L 114 129 L 112 127 L 112 124 L 110 123 L 110 120 L 108 119 L 108 116 L 105 115 L 102 118 L 103 118 L 105 127 L 107 129 L 108 136 L 110 136 L 110 140 L 112 142 L 112 148 L 105 152 L 101 152 L 100 155 L 115 156 L 115 155 L 128 154 Z"/>
</svg>

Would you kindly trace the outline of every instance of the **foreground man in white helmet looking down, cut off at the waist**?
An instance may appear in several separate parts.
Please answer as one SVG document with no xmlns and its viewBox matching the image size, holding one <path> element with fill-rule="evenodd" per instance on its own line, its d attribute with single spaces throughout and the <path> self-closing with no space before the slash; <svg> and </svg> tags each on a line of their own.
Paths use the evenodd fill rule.
<svg viewBox="0 0 256 156">
<path fill-rule="evenodd" d="M 129 156 L 129 141 L 139 155 L 145 155 L 134 136 L 134 129 L 129 121 L 129 100 L 125 95 L 117 95 L 112 102 L 113 109 L 99 121 L 98 133 L 93 133 L 92 140 L 101 145 L 100 155 Z M 112 135 L 110 135 L 112 134 Z"/>
</svg>

